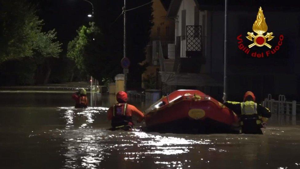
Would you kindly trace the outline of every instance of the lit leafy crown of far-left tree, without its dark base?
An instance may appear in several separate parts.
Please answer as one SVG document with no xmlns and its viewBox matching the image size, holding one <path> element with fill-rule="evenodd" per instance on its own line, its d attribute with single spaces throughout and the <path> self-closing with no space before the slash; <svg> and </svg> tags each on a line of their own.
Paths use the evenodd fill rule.
<svg viewBox="0 0 300 169">
<path fill-rule="evenodd" d="M 21 0 L 0 0 L 0 63 L 23 57 L 58 57 L 56 31 L 42 31 L 36 8 Z"/>
</svg>

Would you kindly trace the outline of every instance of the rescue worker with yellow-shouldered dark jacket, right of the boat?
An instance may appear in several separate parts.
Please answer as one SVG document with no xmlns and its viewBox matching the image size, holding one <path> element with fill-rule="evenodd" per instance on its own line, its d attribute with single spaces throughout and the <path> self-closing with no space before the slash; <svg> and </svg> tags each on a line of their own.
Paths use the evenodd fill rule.
<svg viewBox="0 0 300 169">
<path fill-rule="evenodd" d="M 266 107 L 255 103 L 255 95 L 251 91 L 245 93 L 242 103 L 227 101 L 224 105 L 239 115 L 242 133 L 263 134 L 261 128 L 271 117 L 271 112 Z"/>
</svg>

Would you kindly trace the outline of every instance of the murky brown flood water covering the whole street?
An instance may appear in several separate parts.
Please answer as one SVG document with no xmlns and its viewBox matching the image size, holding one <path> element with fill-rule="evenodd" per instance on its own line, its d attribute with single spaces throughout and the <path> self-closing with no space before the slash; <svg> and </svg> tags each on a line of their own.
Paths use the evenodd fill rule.
<svg viewBox="0 0 300 169">
<path fill-rule="evenodd" d="M 300 167 L 299 117 L 273 114 L 264 135 L 108 131 L 114 96 L 75 109 L 71 94 L 0 92 L 0 168 Z"/>
</svg>

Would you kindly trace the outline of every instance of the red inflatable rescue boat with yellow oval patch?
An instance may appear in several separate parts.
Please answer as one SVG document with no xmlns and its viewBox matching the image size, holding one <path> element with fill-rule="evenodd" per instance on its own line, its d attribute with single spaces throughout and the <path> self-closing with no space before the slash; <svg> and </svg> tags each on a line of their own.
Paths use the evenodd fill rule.
<svg viewBox="0 0 300 169">
<path fill-rule="evenodd" d="M 172 133 L 238 133 L 237 115 L 197 90 L 178 90 L 146 110 L 149 131 Z"/>
</svg>

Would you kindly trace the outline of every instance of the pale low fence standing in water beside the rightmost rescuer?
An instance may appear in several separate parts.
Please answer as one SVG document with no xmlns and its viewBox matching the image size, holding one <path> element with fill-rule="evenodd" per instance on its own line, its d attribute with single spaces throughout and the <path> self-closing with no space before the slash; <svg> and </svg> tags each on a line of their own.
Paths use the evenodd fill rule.
<svg viewBox="0 0 300 169">
<path fill-rule="evenodd" d="M 271 113 L 296 115 L 296 103 L 295 100 L 291 102 L 286 101 L 285 95 L 279 95 L 278 100 L 275 100 L 269 94 L 268 98 L 263 101 L 263 106 L 268 108 Z"/>
</svg>

